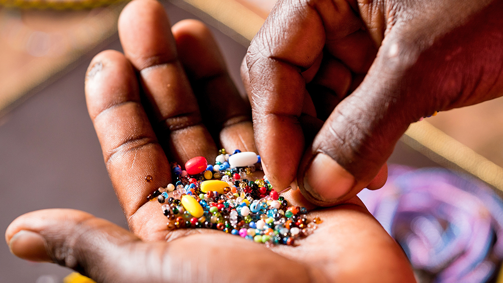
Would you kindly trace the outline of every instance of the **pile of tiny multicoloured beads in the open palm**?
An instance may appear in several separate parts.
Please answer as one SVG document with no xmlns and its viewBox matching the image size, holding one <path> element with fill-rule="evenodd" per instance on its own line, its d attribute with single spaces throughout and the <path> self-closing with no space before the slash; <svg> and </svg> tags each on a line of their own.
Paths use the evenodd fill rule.
<svg viewBox="0 0 503 283">
<path fill-rule="evenodd" d="M 163 204 L 169 229 L 218 229 L 267 246 L 293 245 L 311 234 L 322 221 L 316 217 L 310 222 L 305 208 L 289 206 L 267 178 L 253 180 L 250 174 L 257 166 L 260 156 L 254 152 L 229 155 L 224 149 L 215 165 L 201 156 L 187 161 L 185 170 L 173 162 L 175 184 L 147 198 Z"/>
</svg>

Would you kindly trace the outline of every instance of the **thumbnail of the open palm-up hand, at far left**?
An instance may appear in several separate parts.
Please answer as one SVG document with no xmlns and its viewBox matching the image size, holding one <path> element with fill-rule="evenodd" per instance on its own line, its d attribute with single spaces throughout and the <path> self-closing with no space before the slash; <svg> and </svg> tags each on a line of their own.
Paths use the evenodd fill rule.
<svg viewBox="0 0 503 283">
<path fill-rule="evenodd" d="M 45 239 L 40 234 L 26 230 L 19 231 L 9 241 L 12 254 L 31 261 L 52 261 L 45 246 Z"/>
</svg>

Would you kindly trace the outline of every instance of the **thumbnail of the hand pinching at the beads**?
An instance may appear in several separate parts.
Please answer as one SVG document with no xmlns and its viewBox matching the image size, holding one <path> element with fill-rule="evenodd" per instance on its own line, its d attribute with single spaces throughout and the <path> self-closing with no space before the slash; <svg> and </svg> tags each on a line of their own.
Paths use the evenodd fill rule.
<svg viewBox="0 0 503 283">
<path fill-rule="evenodd" d="M 334 202 L 355 185 L 355 177 L 326 154 L 318 153 L 304 176 L 304 188 L 314 198 Z"/>
</svg>

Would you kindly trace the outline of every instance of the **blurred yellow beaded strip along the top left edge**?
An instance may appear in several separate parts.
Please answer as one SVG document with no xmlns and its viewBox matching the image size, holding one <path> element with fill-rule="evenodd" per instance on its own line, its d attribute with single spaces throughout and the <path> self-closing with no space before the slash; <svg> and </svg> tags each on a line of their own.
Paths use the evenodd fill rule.
<svg viewBox="0 0 503 283">
<path fill-rule="evenodd" d="M 80 10 L 109 6 L 129 0 L 0 0 L 0 7 L 22 9 Z"/>
</svg>

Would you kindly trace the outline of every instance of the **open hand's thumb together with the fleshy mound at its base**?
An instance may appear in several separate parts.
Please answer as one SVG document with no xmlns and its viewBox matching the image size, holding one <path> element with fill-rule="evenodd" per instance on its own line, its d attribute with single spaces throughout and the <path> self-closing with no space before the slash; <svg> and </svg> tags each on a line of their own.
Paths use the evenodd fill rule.
<svg viewBox="0 0 503 283">
<path fill-rule="evenodd" d="M 194 234 L 169 243 L 145 243 L 115 224 L 69 209 L 41 210 L 18 217 L 8 227 L 6 241 L 17 256 L 52 261 L 97 282 L 325 279 L 313 267 L 240 237 Z"/>
</svg>

